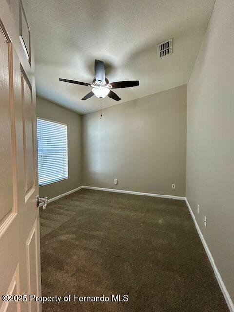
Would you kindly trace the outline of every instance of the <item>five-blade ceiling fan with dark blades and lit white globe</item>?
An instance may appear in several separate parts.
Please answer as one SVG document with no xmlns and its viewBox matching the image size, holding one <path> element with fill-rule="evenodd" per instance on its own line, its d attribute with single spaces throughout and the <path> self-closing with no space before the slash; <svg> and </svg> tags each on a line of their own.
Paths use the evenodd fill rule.
<svg viewBox="0 0 234 312">
<path fill-rule="evenodd" d="M 93 79 L 92 83 L 86 82 L 79 82 L 75 80 L 67 80 L 59 78 L 59 81 L 69 82 L 80 84 L 82 86 L 88 86 L 92 88 L 86 96 L 82 98 L 82 100 L 91 98 L 95 95 L 98 98 L 105 98 L 108 96 L 109 98 L 114 99 L 115 101 L 120 101 L 121 98 L 113 92 L 111 89 L 119 89 L 119 88 L 129 88 L 129 87 L 136 87 L 139 85 L 139 81 L 118 81 L 118 82 L 111 82 L 106 78 L 105 75 L 105 67 L 104 63 L 100 60 L 95 60 L 94 63 L 94 71 L 95 71 L 95 78 Z"/>
</svg>

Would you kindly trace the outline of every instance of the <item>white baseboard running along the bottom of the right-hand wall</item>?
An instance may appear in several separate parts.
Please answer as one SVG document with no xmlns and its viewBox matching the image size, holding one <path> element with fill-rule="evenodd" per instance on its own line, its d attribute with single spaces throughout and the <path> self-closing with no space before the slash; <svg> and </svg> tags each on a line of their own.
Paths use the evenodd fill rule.
<svg viewBox="0 0 234 312">
<path fill-rule="evenodd" d="M 229 308 L 229 310 L 230 310 L 231 312 L 234 312 L 234 304 L 233 304 L 233 302 L 232 302 L 232 299 L 231 299 L 231 297 L 230 297 L 230 295 L 229 295 L 229 293 L 228 293 L 228 291 L 227 291 L 226 286 L 224 285 L 224 282 L 223 282 L 223 280 L 222 280 L 222 277 L 221 277 L 220 273 L 218 272 L 218 268 L 216 267 L 215 260 L 213 259 L 213 256 L 212 256 L 212 254 L 211 254 L 211 252 L 210 252 L 210 250 L 209 250 L 209 248 L 208 248 L 208 246 L 207 246 L 207 243 L 206 243 L 206 241 L 205 241 L 205 238 L 204 238 L 204 236 L 203 236 L 203 234 L 202 234 L 202 232 L 201 232 L 201 230 L 200 230 L 200 228 L 199 228 L 199 225 L 198 225 L 198 223 L 197 223 L 197 221 L 196 221 L 195 215 L 194 215 L 194 213 L 193 213 L 193 211 L 192 211 L 192 209 L 191 209 L 191 207 L 190 207 L 190 205 L 189 205 L 189 202 L 188 202 L 187 198 L 185 198 L 185 202 L 186 202 L 186 204 L 187 204 L 187 206 L 188 206 L 188 209 L 189 209 L 190 214 L 191 214 L 191 216 L 192 216 L 192 219 L 193 219 L 193 221 L 194 221 L 196 230 L 197 230 L 197 232 L 198 232 L 198 234 L 199 234 L 199 236 L 200 236 L 200 239 L 201 239 L 201 241 L 202 241 L 202 244 L 203 244 L 203 246 L 204 246 L 204 248 L 205 248 L 206 254 L 207 254 L 207 256 L 208 256 L 208 258 L 209 258 L 209 260 L 210 260 L 211 266 L 212 266 L 212 268 L 213 268 L 213 270 L 214 270 L 214 272 L 215 272 L 215 276 L 216 276 L 216 278 L 217 278 L 219 287 L 221 288 L 221 291 L 222 291 L 222 293 L 223 293 L 223 295 L 224 295 L 224 298 L 225 298 L 225 300 L 226 300 L 226 302 L 227 302 L 228 308 Z"/>
</svg>

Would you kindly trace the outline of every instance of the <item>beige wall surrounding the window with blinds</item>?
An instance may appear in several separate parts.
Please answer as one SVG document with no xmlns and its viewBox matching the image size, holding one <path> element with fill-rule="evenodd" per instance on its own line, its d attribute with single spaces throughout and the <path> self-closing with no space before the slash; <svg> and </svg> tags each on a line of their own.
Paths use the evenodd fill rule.
<svg viewBox="0 0 234 312">
<path fill-rule="evenodd" d="M 39 97 L 37 97 L 37 116 L 67 124 L 69 178 L 39 187 L 41 197 L 52 198 L 82 185 L 81 116 Z"/>
</svg>

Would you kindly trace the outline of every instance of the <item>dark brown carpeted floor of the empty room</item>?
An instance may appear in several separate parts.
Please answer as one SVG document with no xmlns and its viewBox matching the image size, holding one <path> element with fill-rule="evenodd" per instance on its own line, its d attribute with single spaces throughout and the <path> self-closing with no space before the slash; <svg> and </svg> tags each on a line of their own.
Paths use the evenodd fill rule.
<svg viewBox="0 0 234 312">
<path fill-rule="evenodd" d="M 43 312 L 228 312 L 184 201 L 80 190 L 40 211 Z M 128 302 L 111 302 L 111 295 Z"/>
</svg>

